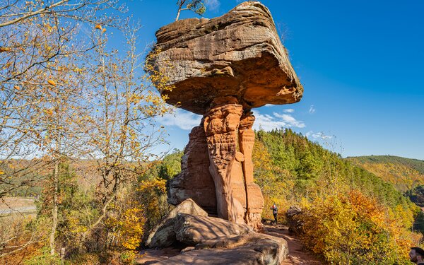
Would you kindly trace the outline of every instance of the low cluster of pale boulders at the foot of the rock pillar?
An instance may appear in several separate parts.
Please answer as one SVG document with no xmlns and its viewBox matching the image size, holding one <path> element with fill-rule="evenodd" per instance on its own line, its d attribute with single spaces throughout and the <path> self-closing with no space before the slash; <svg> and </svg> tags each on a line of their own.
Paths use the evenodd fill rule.
<svg viewBox="0 0 424 265">
<path fill-rule="evenodd" d="M 189 209 L 194 214 L 178 213 Z M 177 206 L 155 229 L 155 235 L 149 237 L 152 247 L 165 249 L 144 249 L 137 264 L 280 264 L 287 257 L 287 242 L 282 238 L 253 232 L 244 224 L 204 216 L 198 209 L 192 201 Z M 157 235 L 165 230 L 167 236 Z M 153 244 L 160 242 L 158 238 L 172 240 Z M 181 246 L 181 252 L 166 248 L 170 245 Z"/>
</svg>

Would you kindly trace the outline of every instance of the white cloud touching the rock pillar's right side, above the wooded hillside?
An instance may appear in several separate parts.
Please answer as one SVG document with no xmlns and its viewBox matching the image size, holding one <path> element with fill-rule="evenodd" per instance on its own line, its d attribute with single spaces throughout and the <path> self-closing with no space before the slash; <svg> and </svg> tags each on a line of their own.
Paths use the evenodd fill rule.
<svg viewBox="0 0 424 265">
<path fill-rule="evenodd" d="M 253 124 L 253 129 L 263 129 L 264 131 L 271 131 L 272 129 L 281 129 L 288 127 L 304 128 L 305 123 L 298 121 L 295 117 L 289 114 L 278 114 L 274 112 L 272 115 L 260 114 L 257 110 L 254 111 L 256 117 Z"/>
</svg>

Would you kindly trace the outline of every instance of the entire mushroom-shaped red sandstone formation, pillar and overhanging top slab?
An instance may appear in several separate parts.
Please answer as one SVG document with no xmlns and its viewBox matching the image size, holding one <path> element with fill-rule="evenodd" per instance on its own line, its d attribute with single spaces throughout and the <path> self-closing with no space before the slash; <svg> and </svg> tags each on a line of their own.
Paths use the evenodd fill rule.
<svg viewBox="0 0 424 265">
<path fill-rule="evenodd" d="M 289 104 L 303 88 L 268 8 L 257 1 L 213 19 L 190 18 L 160 28 L 156 71 L 174 86 L 167 102 L 202 114 L 189 134 L 182 172 L 168 201 L 191 198 L 210 214 L 260 228 L 264 199 L 253 182 L 254 107 Z"/>
</svg>

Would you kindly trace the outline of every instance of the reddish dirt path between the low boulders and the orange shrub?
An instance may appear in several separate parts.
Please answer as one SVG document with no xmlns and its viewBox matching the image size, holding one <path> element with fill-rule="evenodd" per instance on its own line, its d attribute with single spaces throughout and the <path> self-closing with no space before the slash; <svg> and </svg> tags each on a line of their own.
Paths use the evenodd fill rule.
<svg viewBox="0 0 424 265">
<path fill-rule="evenodd" d="M 288 257 L 280 265 L 318 265 L 324 264 L 319 261 L 313 254 L 302 249 L 303 245 L 294 235 L 290 235 L 288 227 L 284 225 L 265 225 L 269 235 L 274 237 L 282 237 L 288 243 Z"/>
</svg>

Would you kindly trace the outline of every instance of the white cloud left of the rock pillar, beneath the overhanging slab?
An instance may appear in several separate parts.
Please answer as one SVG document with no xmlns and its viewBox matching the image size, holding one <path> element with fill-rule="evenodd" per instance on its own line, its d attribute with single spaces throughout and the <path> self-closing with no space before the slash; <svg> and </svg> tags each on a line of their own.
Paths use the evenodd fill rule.
<svg viewBox="0 0 424 265">
<path fill-rule="evenodd" d="M 173 114 L 165 114 L 158 118 L 158 122 L 165 126 L 177 126 L 179 129 L 191 130 L 198 126 L 201 121 L 201 115 L 187 112 L 186 110 L 176 109 Z"/>
</svg>

